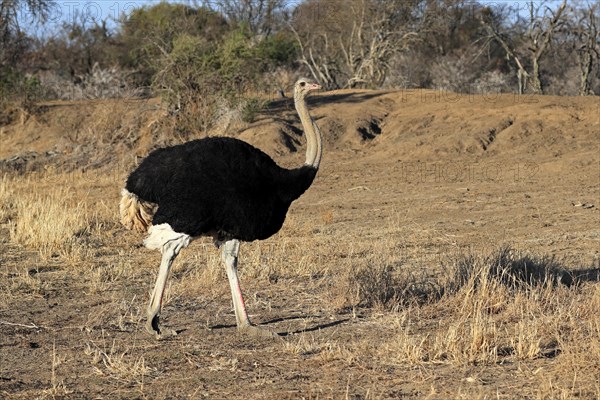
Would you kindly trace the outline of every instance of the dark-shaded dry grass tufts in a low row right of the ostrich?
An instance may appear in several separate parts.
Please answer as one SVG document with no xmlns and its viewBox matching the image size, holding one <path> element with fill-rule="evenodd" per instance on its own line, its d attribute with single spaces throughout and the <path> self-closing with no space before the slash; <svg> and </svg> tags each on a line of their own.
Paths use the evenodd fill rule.
<svg viewBox="0 0 600 400">
<path fill-rule="evenodd" d="M 375 252 L 364 262 L 343 268 L 337 287 L 340 304 L 346 307 L 377 307 L 398 310 L 439 301 L 444 295 L 465 291 L 468 296 L 486 299 L 486 307 L 498 308 L 510 290 L 551 287 L 574 283 L 571 274 L 553 257 L 521 255 L 509 247 L 486 256 L 459 255 L 443 265 L 441 276 L 433 277 L 424 268 L 419 273 L 403 261 L 394 262 Z M 450 271 L 450 272 L 448 272 Z"/>
</svg>

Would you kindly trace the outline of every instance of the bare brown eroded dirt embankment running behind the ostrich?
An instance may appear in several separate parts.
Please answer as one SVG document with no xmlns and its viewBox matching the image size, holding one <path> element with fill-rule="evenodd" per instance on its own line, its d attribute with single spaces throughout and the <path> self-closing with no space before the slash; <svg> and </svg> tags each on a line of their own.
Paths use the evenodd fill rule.
<svg viewBox="0 0 600 400">
<path fill-rule="evenodd" d="M 328 151 L 373 159 L 434 162 L 521 157 L 574 168 L 597 163 L 597 97 L 459 95 L 430 90 L 336 91 L 310 99 Z M 0 127 L 0 166 L 48 164 L 102 167 L 144 156 L 173 137 L 160 102 L 96 100 L 42 104 Z M 273 157 L 302 151 L 302 128 L 291 99 L 275 101 L 253 124 L 229 132 Z M 32 167 L 33 166 L 33 167 Z"/>
</svg>

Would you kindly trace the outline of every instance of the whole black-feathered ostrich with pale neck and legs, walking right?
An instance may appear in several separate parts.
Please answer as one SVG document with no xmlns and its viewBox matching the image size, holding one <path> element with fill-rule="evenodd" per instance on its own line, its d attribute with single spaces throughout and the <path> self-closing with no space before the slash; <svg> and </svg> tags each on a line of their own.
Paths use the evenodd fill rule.
<svg viewBox="0 0 600 400">
<path fill-rule="evenodd" d="M 248 318 L 237 276 L 240 241 L 266 239 L 281 229 L 291 203 L 314 180 L 321 162 L 319 127 L 306 96 L 321 86 L 299 79 L 294 103 L 306 135 L 306 161 L 285 169 L 241 140 L 209 137 L 150 153 L 129 175 L 121 192 L 121 222 L 148 232 L 144 245 L 160 250 L 162 260 L 147 311 L 145 328 L 158 339 L 176 335 L 159 318 L 169 270 L 180 250 L 200 236 L 222 247 L 237 328 L 255 336 L 278 336 Z"/>
</svg>

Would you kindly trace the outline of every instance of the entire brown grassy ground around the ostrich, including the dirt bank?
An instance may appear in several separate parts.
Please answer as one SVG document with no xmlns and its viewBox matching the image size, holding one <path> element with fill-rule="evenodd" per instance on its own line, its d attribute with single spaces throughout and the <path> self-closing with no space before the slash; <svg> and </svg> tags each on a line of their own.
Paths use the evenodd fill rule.
<svg viewBox="0 0 600 400">
<path fill-rule="evenodd" d="M 274 237 L 244 243 L 235 329 L 209 239 L 175 262 L 118 223 L 168 137 L 157 100 L 48 103 L 0 127 L 0 398 L 599 399 L 598 97 L 340 91 Z M 289 101 L 228 134 L 303 162 Z M 217 129 L 212 134 L 220 134 Z"/>
</svg>

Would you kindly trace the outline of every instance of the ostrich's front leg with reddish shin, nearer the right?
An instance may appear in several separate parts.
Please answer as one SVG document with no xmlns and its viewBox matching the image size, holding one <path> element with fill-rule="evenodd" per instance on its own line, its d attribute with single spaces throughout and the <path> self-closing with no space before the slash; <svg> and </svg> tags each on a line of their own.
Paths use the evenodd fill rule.
<svg viewBox="0 0 600 400">
<path fill-rule="evenodd" d="M 278 337 L 279 335 L 275 332 L 252 325 L 250 319 L 248 318 L 246 305 L 244 304 L 244 297 L 242 295 L 242 289 L 240 288 L 240 282 L 237 276 L 237 259 L 239 250 L 239 240 L 233 239 L 225 242 L 223 245 L 222 254 L 222 259 L 223 262 L 225 262 L 225 267 L 227 270 L 227 278 L 229 279 L 229 286 L 231 287 L 231 297 L 233 299 L 233 309 L 235 310 L 235 319 L 238 330 L 240 332 L 248 333 L 252 336 Z"/>
</svg>

